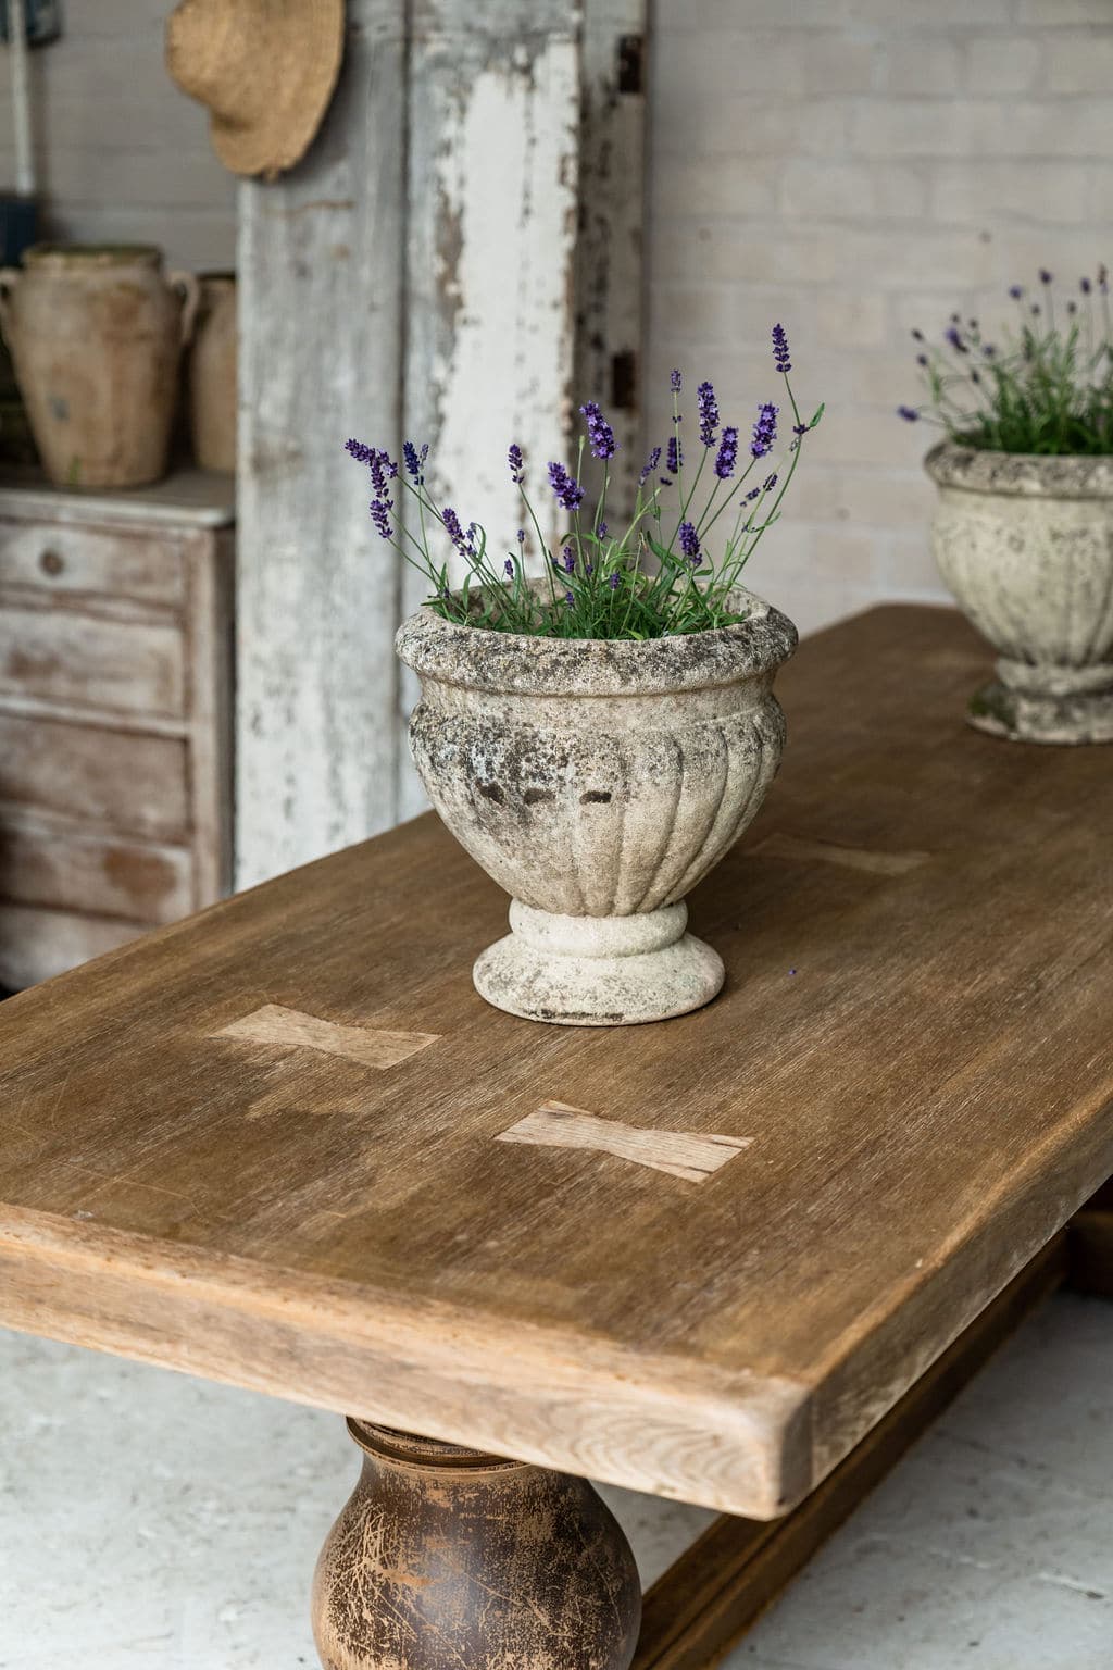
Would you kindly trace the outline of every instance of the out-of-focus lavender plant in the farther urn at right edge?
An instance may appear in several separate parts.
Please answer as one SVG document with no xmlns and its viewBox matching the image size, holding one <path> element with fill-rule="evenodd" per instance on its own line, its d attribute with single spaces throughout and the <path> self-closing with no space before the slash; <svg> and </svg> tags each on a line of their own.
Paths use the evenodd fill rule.
<svg viewBox="0 0 1113 1670">
<path fill-rule="evenodd" d="M 908 423 L 938 424 L 959 446 L 998 453 L 1113 453 L 1113 329 L 1110 276 L 1080 279 L 1078 296 L 1056 311 L 1053 279 L 1040 272 L 1035 299 L 1013 284 L 1011 329 L 988 342 L 976 319 L 951 314 L 941 346 L 923 331 L 916 364 L 926 387 L 919 406 L 898 406 Z"/>
</svg>

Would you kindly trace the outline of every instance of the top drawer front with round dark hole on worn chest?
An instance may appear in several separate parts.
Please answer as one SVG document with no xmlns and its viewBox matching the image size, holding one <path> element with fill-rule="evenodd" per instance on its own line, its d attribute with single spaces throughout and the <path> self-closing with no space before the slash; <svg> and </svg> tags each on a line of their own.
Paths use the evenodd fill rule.
<svg viewBox="0 0 1113 1670">
<path fill-rule="evenodd" d="M 0 586 L 179 606 L 185 601 L 184 541 L 175 534 L 152 539 L 67 523 L 0 521 Z"/>
</svg>

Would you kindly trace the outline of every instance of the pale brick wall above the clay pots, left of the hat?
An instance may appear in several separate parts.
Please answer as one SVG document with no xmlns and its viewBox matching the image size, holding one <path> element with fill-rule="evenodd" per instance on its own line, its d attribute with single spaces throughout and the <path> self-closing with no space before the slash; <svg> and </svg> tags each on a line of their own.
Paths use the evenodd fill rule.
<svg viewBox="0 0 1113 1670">
<path fill-rule="evenodd" d="M 235 180 L 209 117 L 164 67 L 174 0 L 72 0 L 60 40 L 32 53 L 45 235 L 160 244 L 170 266 L 235 264 Z M 0 177 L 13 179 L 0 52 Z"/>
</svg>

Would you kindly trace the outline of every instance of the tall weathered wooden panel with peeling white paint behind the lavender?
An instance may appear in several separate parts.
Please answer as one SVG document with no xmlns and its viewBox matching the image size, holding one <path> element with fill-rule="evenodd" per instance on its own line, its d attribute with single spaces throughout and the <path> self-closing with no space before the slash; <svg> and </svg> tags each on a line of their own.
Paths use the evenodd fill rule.
<svg viewBox="0 0 1113 1670">
<path fill-rule="evenodd" d="M 399 0 L 350 0 L 309 157 L 242 189 L 239 885 L 424 805 L 392 653 L 424 584 L 344 439 L 427 441 L 434 493 L 492 539 L 522 519 L 507 443 L 544 504 L 574 392 L 621 396 L 634 456 L 639 18 L 414 0 L 405 27 Z"/>
</svg>

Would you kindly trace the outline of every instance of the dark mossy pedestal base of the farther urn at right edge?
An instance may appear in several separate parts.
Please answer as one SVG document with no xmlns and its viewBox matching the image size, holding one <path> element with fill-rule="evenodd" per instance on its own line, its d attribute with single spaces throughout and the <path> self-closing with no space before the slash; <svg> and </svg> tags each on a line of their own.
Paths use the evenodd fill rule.
<svg viewBox="0 0 1113 1670">
<path fill-rule="evenodd" d="M 975 730 L 1053 746 L 1113 741 L 1113 666 L 1036 668 L 998 661 L 998 676 L 969 698 Z"/>
</svg>

